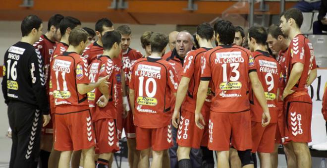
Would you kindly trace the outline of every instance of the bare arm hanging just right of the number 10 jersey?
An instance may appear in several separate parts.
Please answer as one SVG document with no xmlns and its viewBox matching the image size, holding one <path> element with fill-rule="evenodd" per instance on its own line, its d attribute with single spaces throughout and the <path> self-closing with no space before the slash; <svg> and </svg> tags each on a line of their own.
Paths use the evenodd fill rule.
<svg viewBox="0 0 327 168">
<path fill-rule="evenodd" d="M 190 78 L 182 76 L 178 89 L 177 89 L 177 94 L 176 94 L 176 103 L 175 103 L 175 109 L 174 109 L 174 113 L 172 114 L 172 125 L 177 128 L 178 127 L 178 123 L 179 123 L 179 110 L 180 107 L 182 106 L 182 103 L 184 101 L 184 98 L 186 96 L 186 92 L 188 89 L 188 84 L 190 83 Z"/>
</svg>

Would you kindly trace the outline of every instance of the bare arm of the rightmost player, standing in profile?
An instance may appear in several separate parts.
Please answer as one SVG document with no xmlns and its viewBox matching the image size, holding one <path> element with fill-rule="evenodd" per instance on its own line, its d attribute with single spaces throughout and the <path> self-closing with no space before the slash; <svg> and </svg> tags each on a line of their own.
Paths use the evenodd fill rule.
<svg viewBox="0 0 327 168">
<path fill-rule="evenodd" d="M 291 90 L 295 84 L 299 81 L 302 72 L 303 72 L 304 64 L 301 62 L 296 62 L 293 65 L 293 68 L 291 70 L 291 74 L 289 75 L 288 82 L 286 84 L 286 87 L 284 89 L 283 95 L 281 97 L 282 100 L 284 100 L 288 95 L 294 93 L 295 91 Z M 310 76 L 309 76 L 310 78 Z"/>
</svg>

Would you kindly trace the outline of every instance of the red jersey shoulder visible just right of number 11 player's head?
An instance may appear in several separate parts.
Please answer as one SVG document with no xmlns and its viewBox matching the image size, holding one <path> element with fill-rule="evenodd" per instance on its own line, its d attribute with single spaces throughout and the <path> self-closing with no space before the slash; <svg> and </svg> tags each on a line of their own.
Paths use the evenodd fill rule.
<svg viewBox="0 0 327 168">
<path fill-rule="evenodd" d="M 83 51 L 82 56 L 87 59 L 87 62 L 90 64 L 92 60 L 96 59 L 98 56 L 101 56 L 104 53 L 104 48 L 101 47 L 97 42 L 90 44 Z"/>
</svg>

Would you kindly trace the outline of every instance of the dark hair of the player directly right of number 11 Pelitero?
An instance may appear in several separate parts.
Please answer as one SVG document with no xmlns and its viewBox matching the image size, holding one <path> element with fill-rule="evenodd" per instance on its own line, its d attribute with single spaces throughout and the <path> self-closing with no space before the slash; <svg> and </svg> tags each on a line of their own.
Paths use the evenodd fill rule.
<svg viewBox="0 0 327 168">
<path fill-rule="evenodd" d="M 104 50 L 110 50 L 114 43 L 118 43 L 118 45 L 120 45 L 121 35 L 117 31 L 110 31 L 106 32 L 102 36 L 101 40 L 104 46 Z"/>
</svg>

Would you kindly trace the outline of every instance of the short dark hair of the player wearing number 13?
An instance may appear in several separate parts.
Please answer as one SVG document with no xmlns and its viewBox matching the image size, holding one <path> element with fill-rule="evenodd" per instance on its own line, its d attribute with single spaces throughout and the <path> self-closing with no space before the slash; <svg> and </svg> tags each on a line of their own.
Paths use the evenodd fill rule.
<svg viewBox="0 0 327 168">
<path fill-rule="evenodd" d="M 235 28 L 228 20 L 218 20 L 215 23 L 215 33 L 219 35 L 219 42 L 222 44 L 233 44 L 235 37 Z"/>
</svg>

